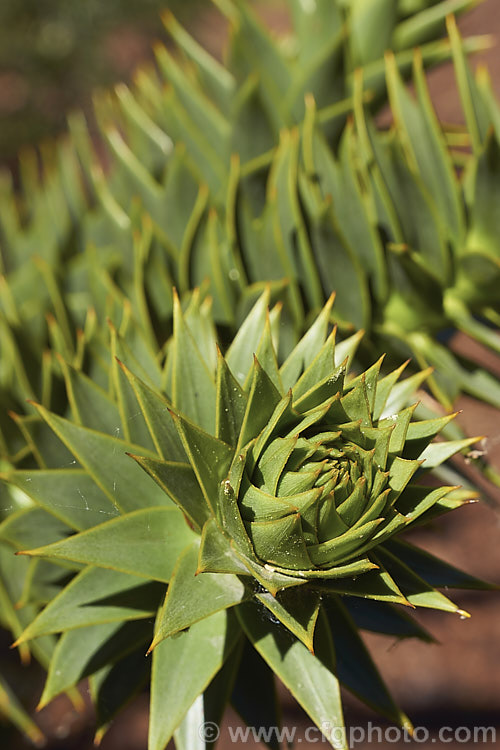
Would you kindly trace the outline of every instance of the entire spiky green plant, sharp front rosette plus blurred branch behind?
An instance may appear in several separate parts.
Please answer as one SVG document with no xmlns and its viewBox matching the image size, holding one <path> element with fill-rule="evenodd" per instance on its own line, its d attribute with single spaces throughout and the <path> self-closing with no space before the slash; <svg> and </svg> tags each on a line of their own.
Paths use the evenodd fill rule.
<svg viewBox="0 0 500 750">
<path fill-rule="evenodd" d="M 294 2 L 296 43 L 283 48 L 244 3 L 218 5 L 233 26 L 230 70 L 167 14 L 188 65 L 158 50 L 159 72 L 96 101 L 106 174 L 73 117 L 71 139 L 42 154 L 41 183 L 34 154 L 22 159 L 22 200 L 2 183 L 2 508 L 19 510 L 0 532 L 1 620 L 23 658 L 29 642 L 47 665 L 64 633 L 44 700 L 90 676 L 99 737 L 147 680 L 151 640 L 151 747 L 172 734 L 190 747 L 196 722 L 220 718 L 233 679 L 232 701 L 253 720 L 244 636 L 265 684 L 276 672 L 314 721 L 339 729 L 341 746 L 339 679 L 406 724 L 344 607 L 358 627 L 426 639 L 393 603 L 459 611 L 436 588 L 481 585 L 394 539 L 467 501 L 466 490 L 414 482 L 472 441 L 431 444 L 449 418 L 415 421 L 408 403 L 425 373 L 398 382 L 402 369 L 379 362 L 351 376 L 360 335 L 334 344 L 330 304 L 296 342 L 336 289 L 343 332 L 369 328 L 365 359 L 382 341 L 399 361 L 437 366 L 430 384 L 446 405 L 460 389 L 500 403 L 485 370 L 434 338 L 451 323 L 498 351 L 475 316 L 498 325 L 500 119 L 467 66 L 478 43 L 462 44 L 453 20 L 471 157 L 445 148 L 460 136 L 437 126 L 419 57 L 416 101 L 400 80 L 408 44 L 422 45 L 424 63 L 449 55 L 432 40 L 467 0 L 377 0 L 367 13 L 364 0 Z M 388 44 L 396 54 L 384 64 Z M 368 113 L 386 82 L 389 133 Z M 453 159 L 468 165 L 460 181 Z M 225 356 L 204 292 L 190 292 L 206 279 Z M 187 660 L 174 695 L 165 670 Z M 12 717 L 39 737 L 15 706 Z"/>
</svg>

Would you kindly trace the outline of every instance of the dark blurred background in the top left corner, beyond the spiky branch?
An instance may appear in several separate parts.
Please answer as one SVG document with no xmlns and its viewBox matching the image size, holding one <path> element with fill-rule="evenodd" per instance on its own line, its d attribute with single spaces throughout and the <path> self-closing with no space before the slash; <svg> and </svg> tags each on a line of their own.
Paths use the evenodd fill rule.
<svg viewBox="0 0 500 750">
<path fill-rule="evenodd" d="M 160 12 L 180 20 L 198 0 L 0 0 L 0 162 L 60 132 L 93 89 L 130 77 L 164 36 Z"/>
</svg>

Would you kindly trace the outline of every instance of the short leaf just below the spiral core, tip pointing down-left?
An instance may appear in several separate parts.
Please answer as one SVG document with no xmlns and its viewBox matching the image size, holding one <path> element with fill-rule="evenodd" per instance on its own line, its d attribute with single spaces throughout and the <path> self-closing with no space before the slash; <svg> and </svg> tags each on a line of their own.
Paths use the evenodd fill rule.
<svg viewBox="0 0 500 750">
<path fill-rule="evenodd" d="M 200 543 L 196 540 L 179 556 L 165 603 L 158 616 L 151 648 L 215 612 L 234 607 L 251 594 L 229 573 L 198 573 Z"/>
</svg>

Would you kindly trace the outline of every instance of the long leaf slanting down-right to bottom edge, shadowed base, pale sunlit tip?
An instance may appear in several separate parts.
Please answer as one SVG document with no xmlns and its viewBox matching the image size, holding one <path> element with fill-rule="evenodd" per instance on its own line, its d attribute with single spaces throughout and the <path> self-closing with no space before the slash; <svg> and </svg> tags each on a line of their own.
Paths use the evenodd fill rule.
<svg viewBox="0 0 500 750">
<path fill-rule="evenodd" d="M 330 735 L 334 747 L 347 750 L 333 642 L 323 618 L 317 624 L 313 656 L 291 633 L 262 619 L 256 604 L 240 605 L 237 614 L 255 649 L 316 726 L 322 729 L 327 739 Z"/>
</svg>

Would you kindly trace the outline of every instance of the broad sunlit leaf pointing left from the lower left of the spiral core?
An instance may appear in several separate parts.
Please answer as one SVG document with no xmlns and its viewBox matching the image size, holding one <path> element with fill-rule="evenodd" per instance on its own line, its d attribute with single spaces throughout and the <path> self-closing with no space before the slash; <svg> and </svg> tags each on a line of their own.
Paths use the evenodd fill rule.
<svg viewBox="0 0 500 750">
<path fill-rule="evenodd" d="M 72 560 L 168 582 L 179 554 L 195 538 L 177 508 L 150 508 L 23 554 Z"/>
</svg>

